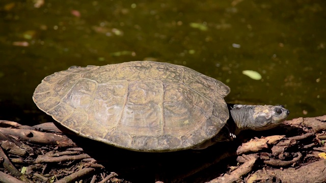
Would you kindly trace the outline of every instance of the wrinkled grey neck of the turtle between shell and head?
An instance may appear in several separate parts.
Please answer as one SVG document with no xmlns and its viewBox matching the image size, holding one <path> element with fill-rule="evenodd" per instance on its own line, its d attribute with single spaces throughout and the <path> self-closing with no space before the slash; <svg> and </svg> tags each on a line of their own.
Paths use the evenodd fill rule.
<svg viewBox="0 0 326 183">
<path fill-rule="evenodd" d="M 253 115 L 251 112 L 248 112 L 249 110 L 253 110 L 254 106 L 248 105 L 241 108 L 236 108 L 237 104 L 228 104 L 228 108 L 230 111 L 230 117 L 229 120 L 233 121 L 236 129 L 235 134 L 239 134 L 242 130 L 248 130 L 251 129 L 248 127 L 248 123 L 246 121 L 254 121 Z"/>
</svg>

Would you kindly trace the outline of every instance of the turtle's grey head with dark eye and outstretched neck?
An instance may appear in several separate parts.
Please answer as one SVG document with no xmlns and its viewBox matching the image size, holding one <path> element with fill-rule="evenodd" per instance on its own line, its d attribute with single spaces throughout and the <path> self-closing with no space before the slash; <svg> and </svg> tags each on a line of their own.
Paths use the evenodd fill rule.
<svg viewBox="0 0 326 183">
<path fill-rule="evenodd" d="M 256 131 L 280 125 L 290 113 L 282 105 L 234 105 L 230 112 L 239 130 Z"/>
</svg>

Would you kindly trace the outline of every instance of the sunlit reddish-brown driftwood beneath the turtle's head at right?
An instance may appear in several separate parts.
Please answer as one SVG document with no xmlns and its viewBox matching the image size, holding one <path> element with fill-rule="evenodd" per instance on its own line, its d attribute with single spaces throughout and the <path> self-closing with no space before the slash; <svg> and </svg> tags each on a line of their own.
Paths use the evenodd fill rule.
<svg viewBox="0 0 326 183">
<path fill-rule="evenodd" d="M 257 152 L 257 147 L 255 147 L 255 145 L 251 145 L 253 142 L 258 142 L 258 147 L 264 148 L 270 147 L 270 144 L 273 144 L 273 146 L 269 148 L 270 153 L 267 153 L 267 155 L 266 153 L 260 154 L 260 158 L 262 160 L 267 159 L 264 160 L 263 163 L 271 167 L 269 167 L 269 169 L 265 169 L 265 171 L 256 171 L 248 176 L 246 181 L 277 182 L 278 180 L 281 180 L 282 182 L 325 182 L 326 175 L 324 173 L 324 169 L 326 168 L 326 160 L 324 160 L 324 158 L 318 160 L 319 156 L 317 156 L 320 155 L 320 152 L 326 152 L 326 148 L 323 147 L 323 142 L 318 139 L 318 137 L 325 137 L 325 122 L 326 115 L 320 117 L 296 118 L 288 120 L 285 121 L 286 125 L 300 129 L 298 131 L 303 134 L 292 137 L 269 136 L 243 143 L 237 150 L 238 154 L 248 153 L 250 151 Z M 273 137 L 273 143 L 270 143 L 270 137 Z M 305 144 L 304 142 L 308 144 Z M 318 144 L 318 142 L 322 143 Z M 253 150 L 250 150 L 250 148 Z M 263 148 L 260 148 L 259 150 L 261 149 Z M 297 151 L 294 152 L 294 149 Z M 303 157 L 303 151 L 310 154 Z M 277 159 L 270 157 L 275 157 Z M 311 160 L 312 162 L 307 161 L 312 157 L 315 158 Z M 305 159 L 307 163 L 304 163 Z M 282 169 L 277 167 L 282 167 Z"/>
</svg>

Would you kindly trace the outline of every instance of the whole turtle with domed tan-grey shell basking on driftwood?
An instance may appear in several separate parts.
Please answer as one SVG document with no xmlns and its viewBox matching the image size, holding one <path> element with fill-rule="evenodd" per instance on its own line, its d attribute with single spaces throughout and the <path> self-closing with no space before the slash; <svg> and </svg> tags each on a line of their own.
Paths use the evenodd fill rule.
<svg viewBox="0 0 326 183">
<path fill-rule="evenodd" d="M 79 136 L 145 152 L 204 149 L 241 130 L 268 130 L 282 105 L 228 104 L 230 88 L 185 66 L 133 61 L 72 66 L 45 77 L 33 101 Z"/>
</svg>

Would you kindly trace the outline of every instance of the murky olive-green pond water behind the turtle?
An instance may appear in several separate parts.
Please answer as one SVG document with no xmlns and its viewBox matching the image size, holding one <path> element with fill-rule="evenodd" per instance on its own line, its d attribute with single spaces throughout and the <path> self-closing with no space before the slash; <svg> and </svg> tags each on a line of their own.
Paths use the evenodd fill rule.
<svg viewBox="0 0 326 183">
<path fill-rule="evenodd" d="M 144 59 L 223 81 L 228 102 L 324 115 L 325 11 L 323 0 L 1 1 L 0 119 L 45 120 L 32 95 L 54 72 Z"/>
</svg>

